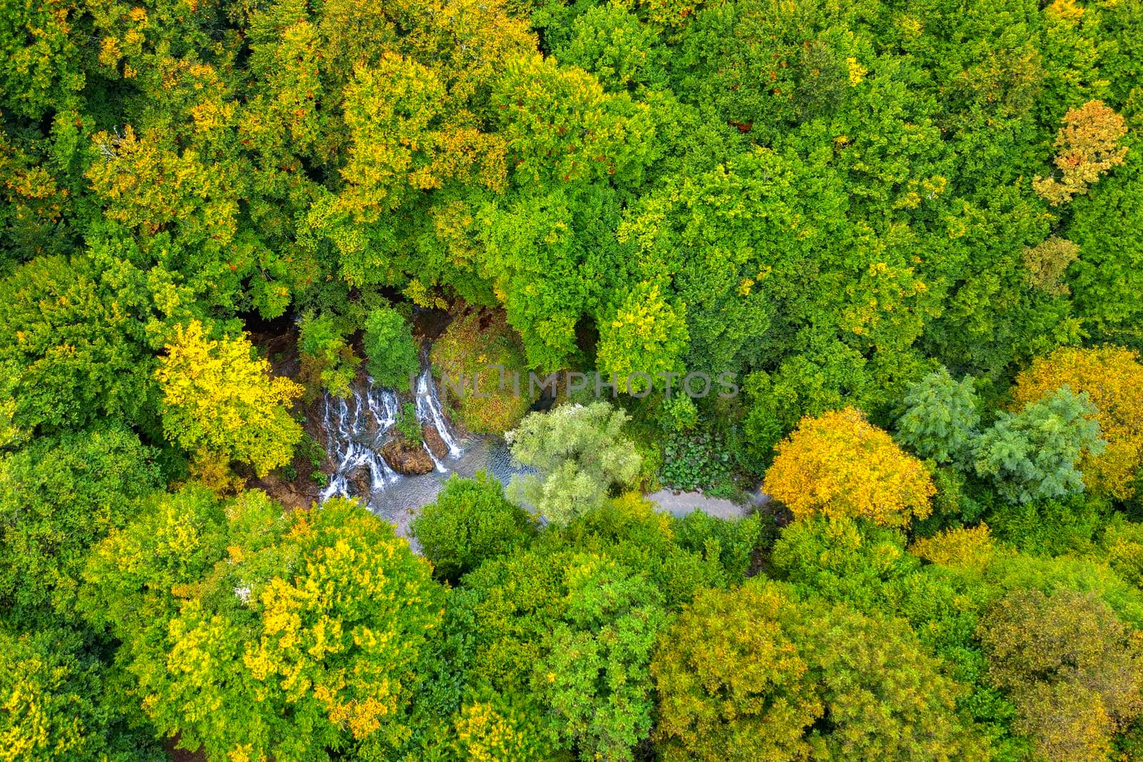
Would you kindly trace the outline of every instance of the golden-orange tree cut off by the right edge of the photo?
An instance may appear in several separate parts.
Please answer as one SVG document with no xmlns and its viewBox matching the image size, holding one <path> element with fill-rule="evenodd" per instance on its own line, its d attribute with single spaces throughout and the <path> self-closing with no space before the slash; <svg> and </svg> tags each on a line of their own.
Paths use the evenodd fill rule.
<svg viewBox="0 0 1143 762">
<path fill-rule="evenodd" d="M 1138 355 L 1112 346 L 1062 347 L 1016 376 L 1014 405 L 1034 402 L 1065 384 L 1077 394 L 1087 392 L 1108 440 L 1102 454 L 1085 455 L 1080 463 L 1087 486 L 1114 498 L 1132 497 L 1132 481 L 1143 465 L 1143 365 Z"/>
</svg>

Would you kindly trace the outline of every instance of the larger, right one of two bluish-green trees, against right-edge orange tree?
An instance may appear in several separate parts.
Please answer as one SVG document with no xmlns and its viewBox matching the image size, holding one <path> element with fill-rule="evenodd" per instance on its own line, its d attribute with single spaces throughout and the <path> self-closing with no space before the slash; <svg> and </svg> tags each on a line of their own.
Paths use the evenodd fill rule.
<svg viewBox="0 0 1143 762">
<path fill-rule="evenodd" d="M 1066 386 L 1018 413 L 1001 412 L 973 444 L 977 475 L 1012 502 L 1081 492 L 1079 460 L 1104 446 L 1094 414 L 1087 395 Z"/>
</svg>

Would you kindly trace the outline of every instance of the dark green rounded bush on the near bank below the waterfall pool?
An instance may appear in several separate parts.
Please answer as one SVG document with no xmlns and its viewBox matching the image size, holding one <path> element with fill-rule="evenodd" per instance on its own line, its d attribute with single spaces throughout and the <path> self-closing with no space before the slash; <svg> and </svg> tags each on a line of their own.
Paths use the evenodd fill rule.
<svg viewBox="0 0 1143 762">
<path fill-rule="evenodd" d="M 459 579 L 486 558 L 526 545 L 535 533 L 526 510 L 504 498 L 499 482 L 485 471 L 453 476 L 413 521 L 413 534 L 440 579 Z"/>
</svg>

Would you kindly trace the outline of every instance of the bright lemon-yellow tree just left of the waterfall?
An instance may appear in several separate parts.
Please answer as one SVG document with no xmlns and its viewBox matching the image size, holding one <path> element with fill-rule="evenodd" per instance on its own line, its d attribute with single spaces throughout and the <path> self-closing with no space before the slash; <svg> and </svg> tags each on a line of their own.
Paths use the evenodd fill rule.
<svg viewBox="0 0 1143 762">
<path fill-rule="evenodd" d="M 167 438 L 201 458 L 254 466 L 259 476 L 289 462 L 302 426 L 287 406 L 302 394 L 289 379 L 271 379 L 246 338 L 214 341 L 202 324 L 178 326 L 155 376 L 162 387 Z"/>
</svg>

